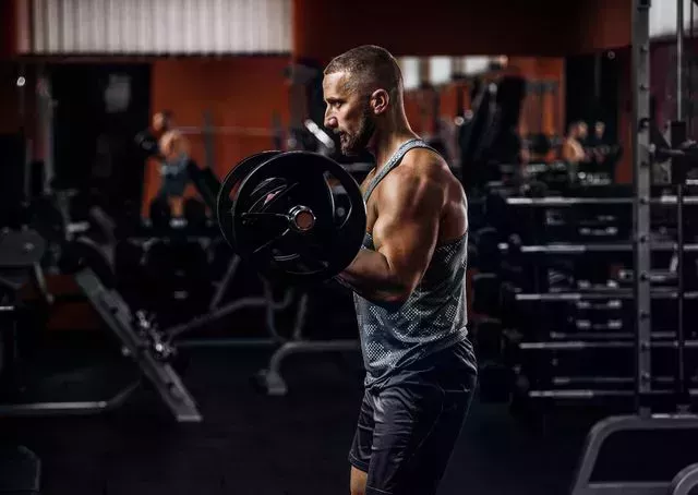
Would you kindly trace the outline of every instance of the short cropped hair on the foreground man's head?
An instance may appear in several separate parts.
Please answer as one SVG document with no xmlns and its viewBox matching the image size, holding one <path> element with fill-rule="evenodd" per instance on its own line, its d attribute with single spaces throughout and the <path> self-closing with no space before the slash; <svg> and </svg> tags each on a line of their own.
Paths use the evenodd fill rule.
<svg viewBox="0 0 698 495">
<path fill-rule="evenodd" d="M 362 45 L 335 57 L 325 68 L 324 74 L 347 72 L 348 90 L 372 93 L 386 89 L 396 97 L 402 92 L 402 72 L 395 57 L 385 48 Z"/>
</svg>

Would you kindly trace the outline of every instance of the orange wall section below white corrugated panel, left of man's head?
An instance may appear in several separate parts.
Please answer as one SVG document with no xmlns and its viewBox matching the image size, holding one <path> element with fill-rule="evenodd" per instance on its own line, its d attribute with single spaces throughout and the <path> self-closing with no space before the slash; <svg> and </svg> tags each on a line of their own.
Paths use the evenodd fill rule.
<svg viewBox="0 0 698 495">
<path fill-rule="evenodd" d="M 289 98 L 284 69 L 287 57 L 189 58 L 153 62 L 151 108 L 170 109 L 176 125 L 203 125 L 203 112 L 210 111 L 216 126 L 272 130 L 277 112 L 281 125 L 289 121 Z M 204 140 L 189 135 L 193 158 L 206 165 Z M 253 153 L 270 149 L 272 137 L 216 134 L 215 172 L 222 176 Z M 145 178 L 144 213 L 159 188 L 156 167 Z"/>
</svg>

